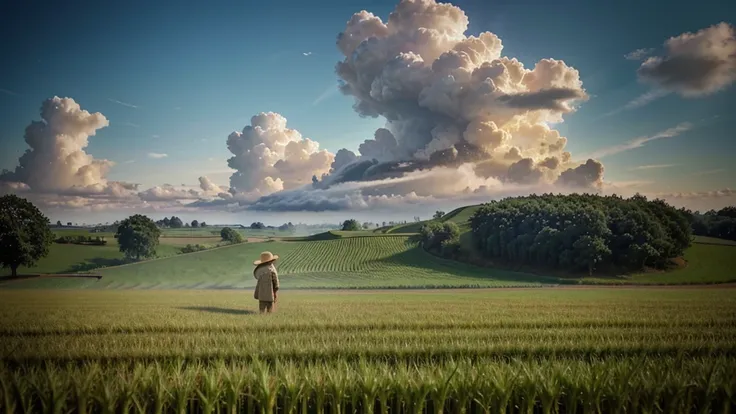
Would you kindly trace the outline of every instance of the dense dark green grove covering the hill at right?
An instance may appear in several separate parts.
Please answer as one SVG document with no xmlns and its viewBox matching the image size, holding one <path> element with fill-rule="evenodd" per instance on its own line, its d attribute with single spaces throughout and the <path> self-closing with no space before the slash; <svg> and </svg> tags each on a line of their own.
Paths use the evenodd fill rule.
<svg viewBox="0 0 736 414">
<path fill-rule="evenodd" d="M 690 245 L 687 216 L 636 195 L 531 195 L 483 205 L 470 220 L 486 258 L 571 272 L 664 268 Z"/>
</svg>

